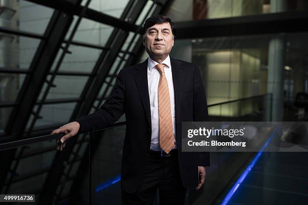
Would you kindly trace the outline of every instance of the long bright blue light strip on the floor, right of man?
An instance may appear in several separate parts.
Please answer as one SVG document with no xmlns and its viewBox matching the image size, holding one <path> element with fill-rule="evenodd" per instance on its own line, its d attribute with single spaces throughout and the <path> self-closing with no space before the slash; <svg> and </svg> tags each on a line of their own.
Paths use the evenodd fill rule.
<svg viewBox="0 0 308 205">
<path fill-rule="evenodd" d="M 225 205 L 229 202 L 229 200 L 231 199 L 231 197 L 233 196 L 233 194 L 237 191 L 237 189 L 239 188 L 239 186 L 241 185 L 241 183 L 244 181 L 244 179 L 246 178 L 246 176 L 248 175 L 248 173 L 252 170 L 252 168 L 255 166 L 256 162 L 258 161 L 258 159 L 260 158 L 261 154 L 263 153 L 264 149 L 267 147 L 268 143 L 272 140 L 272 138 L 275 136 L 276 131 L 278 128 L 276 128 L 274 130 L 274 132 L 271 134 L 271 136 L 266 140 L 266 142 L 264 143 L 264 145 L 262 146 L 262 148 L 260 149 L 260 151 L 258 152 L 258 154 L 255 156 L 255 158 L 252 160 L 252 162 L 248 165 L 248 167 L 245 169 L 245 171 L 242 173 L 242 175 L 240 176 L 240 178 L 237 180 L 237 182 L 233 185 L 233 187 L 229 190 L 229 192 L 226 194 L 226 196 L 224 197 L 221 205 Z"/>
</svg>

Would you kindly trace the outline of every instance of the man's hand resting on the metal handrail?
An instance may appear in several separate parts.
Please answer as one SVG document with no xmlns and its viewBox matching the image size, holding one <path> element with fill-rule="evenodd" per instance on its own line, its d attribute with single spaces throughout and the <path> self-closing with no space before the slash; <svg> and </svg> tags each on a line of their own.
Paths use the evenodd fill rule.
<svg viewBox="0 0 308 205">
<path fill-rule="evenodd" d="M 61 137 L 61 139 L 56 140 L 57 150 L 62 151 L 63 148 L 65 147 L 65 141 L 71 138 L 72 136 L 75 136 L 78 133 L 79 128 L 80 128 L 80 124 L 74 121 L 66 125 L 63 125 L 56 130 L 53 130 L 51 132 L 51 135 L 58 134 L 58 133 L 66 134 L 63 137 Z"/>
</svg>

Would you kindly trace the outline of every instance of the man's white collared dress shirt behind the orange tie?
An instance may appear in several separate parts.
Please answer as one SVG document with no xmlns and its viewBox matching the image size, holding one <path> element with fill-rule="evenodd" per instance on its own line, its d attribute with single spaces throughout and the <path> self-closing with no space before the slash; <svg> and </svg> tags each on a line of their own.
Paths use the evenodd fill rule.
<svg viewBox="0 0 308 205">
<path fill-rule="evenodd" d="M 150 150 L 161 151 L 160 147 L 160 124 L 159 124 L 159 105 L 158 105 L 158 84 L 160 80 L 160 71 L 155 67 L 158 62 L 152 60 L 150 57 L 147 59 L 147 85 L 151 109 L 151 125 L 152 125 L 152 136 L 151 136 L 151 146 Z M 176 131 L 175 131 L 175 100 L 174 100 L 174 88 L 172 80 L 172 68 L 170 63 L 170 57 L 168 57 L 161 63 L 166 64 L 164 70 L 169 87 L 170 95 L 170 104 L 171 104 L 171 116 L 172 116 L 172 125 L 173 125 L 173 136 L 175 148 L 177 147 L 176 143 Z"/>
</svg>

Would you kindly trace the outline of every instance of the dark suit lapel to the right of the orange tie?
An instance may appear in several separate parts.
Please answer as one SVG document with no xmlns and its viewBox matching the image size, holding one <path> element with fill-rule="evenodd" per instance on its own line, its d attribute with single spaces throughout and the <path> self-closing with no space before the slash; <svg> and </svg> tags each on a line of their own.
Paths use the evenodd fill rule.
<svg viewBox="0 0 308 205">
<path fill-rule="evenodd" d="M 170 58 L 172 79 L 174 86 L 174 98 L 175 98 L 175 109 L 176 109 L 176 122 L 180 122 L 180 111 L 182 101 L 182 85 L 184 81 L 184 67 L 181 61 Z"/>
</svg>

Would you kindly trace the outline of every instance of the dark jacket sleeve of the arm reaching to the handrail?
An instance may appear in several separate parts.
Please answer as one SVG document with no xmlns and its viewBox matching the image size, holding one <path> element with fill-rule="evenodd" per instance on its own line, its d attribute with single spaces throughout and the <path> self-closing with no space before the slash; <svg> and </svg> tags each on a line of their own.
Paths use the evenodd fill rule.
<svg viewBox="0 0 308 205">
<path fill-rule="evenodd" d="M 75 120 L 80 124 L 79 133 L 103 129 L 115 123 L 125 113 L 125 82 L 122 71 L 116 78 L 112 94 L 106 99 L 100 110 Z"/>
</svg>

